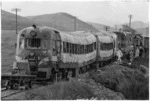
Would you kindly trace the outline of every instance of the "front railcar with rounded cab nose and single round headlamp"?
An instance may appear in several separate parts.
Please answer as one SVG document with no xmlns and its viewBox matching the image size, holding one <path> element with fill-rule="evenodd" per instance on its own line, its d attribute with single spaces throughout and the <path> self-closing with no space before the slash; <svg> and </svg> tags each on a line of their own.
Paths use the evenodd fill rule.
<svg viewBox="0 0 150 101">
<path fill-rule="evenodd" d="M 23 29 L 17 38 L 13 72 L 22 70 L 39 80 L 53 79 L 55 72 L 74 77 L 96 59 L 96 38 L 89 32 L 61 32 L 50 27 Z"/>
</svg>

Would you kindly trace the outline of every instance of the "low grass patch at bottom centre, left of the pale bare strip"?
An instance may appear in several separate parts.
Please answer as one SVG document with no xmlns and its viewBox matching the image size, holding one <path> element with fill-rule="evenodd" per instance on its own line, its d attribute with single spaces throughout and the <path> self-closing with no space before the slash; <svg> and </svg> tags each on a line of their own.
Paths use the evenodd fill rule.
<svg viewBox="0 0 150 101">
<path fill-rule="evenodd" d="M 59 82 L 40 89 L 27 92 L 27 100 L 75 100 L 90 99 L 95 95 L 90 88 L 81 82 Z"/>
</svg>

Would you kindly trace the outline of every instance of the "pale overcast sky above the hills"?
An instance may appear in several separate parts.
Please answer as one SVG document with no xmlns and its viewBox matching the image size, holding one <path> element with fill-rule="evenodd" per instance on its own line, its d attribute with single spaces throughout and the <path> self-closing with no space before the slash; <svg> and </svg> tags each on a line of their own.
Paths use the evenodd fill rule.
<svg viewBox="0 0 150 101">
<path fill-rule="evenodd" d="M 132 21 L 149 21 L 148 0 L 107 0 L 107 1 L 3 1 L 2 9 L 12 12 L 12 8 L 20 8 L 21 16 L 34 16 L 66 12 L 86 22 L 95 22 L 115 26 Z M 12 12 L 15 13 L 15 12 Z"/>
</svg>

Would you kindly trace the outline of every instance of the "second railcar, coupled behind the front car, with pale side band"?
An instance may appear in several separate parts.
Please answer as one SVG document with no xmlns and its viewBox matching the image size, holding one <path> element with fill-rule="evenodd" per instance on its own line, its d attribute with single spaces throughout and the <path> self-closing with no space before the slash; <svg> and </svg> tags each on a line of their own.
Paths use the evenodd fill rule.
<svg viewBox="0 0 150 101">
<path fill-rule="evenodd" d="M 94 33 L 97 38 L 97 63 L 100 66 L 106 65 L 110 62 L 115 54 L 115 41 L 113 37 L 108 35 L 110 33 L 105 31 L 100 31 L 99 33 Z"/>
</svg>

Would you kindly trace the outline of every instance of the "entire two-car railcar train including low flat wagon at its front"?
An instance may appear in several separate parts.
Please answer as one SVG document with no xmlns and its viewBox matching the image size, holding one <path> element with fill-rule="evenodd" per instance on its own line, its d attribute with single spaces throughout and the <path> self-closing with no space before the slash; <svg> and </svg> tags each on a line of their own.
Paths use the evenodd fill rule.
<svg viewBox="0 0 150 101">
<path fill-rule="evenodd" d="M 76 77 L 89 68 L 103 66 L 116 57 L 118 36 L 112 32 L 62 32 L 46 26 L 21 30 L 17 36 L 12 74 L 2 75 L 7 87 L 32 81 Z M 21 84 L 20 84 L 21 82 Z"/>
</svg>

